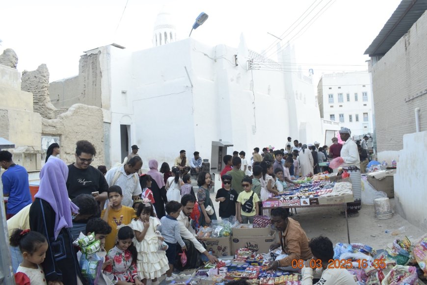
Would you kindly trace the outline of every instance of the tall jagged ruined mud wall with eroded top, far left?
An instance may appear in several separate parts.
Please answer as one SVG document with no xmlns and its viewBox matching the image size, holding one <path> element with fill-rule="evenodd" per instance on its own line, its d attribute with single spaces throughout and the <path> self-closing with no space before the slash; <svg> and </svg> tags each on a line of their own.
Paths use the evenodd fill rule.
<svg viewBox="0 0 427 285">
<path fill-rule="evenodd" d="M 41 64 L 34 71 L 24 71 L 21 81 L 21 89 L 33 95 L 34 112 L 43 118 L 54 119 L 56 108 L 49 98 L 49 70 L 46 64 Z"/>
</svg>

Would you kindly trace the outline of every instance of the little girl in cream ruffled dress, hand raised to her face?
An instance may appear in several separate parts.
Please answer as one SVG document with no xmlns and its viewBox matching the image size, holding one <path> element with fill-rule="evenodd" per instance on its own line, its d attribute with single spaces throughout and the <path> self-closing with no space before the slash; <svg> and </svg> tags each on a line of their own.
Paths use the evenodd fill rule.
<svg viewBox="0 0 427 285">
<path fill-rule="evenodd" d="M 160 221 L 156 218 L 151 203 L 141 203 L 136 211 L 137 220 L 131 222 L 135 233 L 133 244 L 138 252 L 136 267 L 138 277 L 142 283 L 147 284 L 151 279 L 153 285 L 158 285 L 157 279 L 169 269 L 166 252 L 159 250 L 159 237 L 156 234 Z"/>
</svg>

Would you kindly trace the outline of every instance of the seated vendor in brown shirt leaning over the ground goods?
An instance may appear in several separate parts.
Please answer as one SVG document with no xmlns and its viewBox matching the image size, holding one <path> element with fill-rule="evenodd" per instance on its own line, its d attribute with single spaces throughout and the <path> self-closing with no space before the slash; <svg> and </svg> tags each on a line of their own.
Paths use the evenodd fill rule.
<svg viewBox="0 0 427 285">
<path fill-rule="evenodd" d="M 284 254 L 288 256 L 284 259 L 273 261 L 268 270 L 276 270 L 277 267 L 288 267 L 292 265 L 292 260 L 307 260 L 312 258 L 312 253 L 308 247 L 308 237 L 299 223 L 292 218 L 288 218 L 288 211 L 285 208 L 275 208 L 271 210 L 271 220 L 279 232 L 280 243 L 274 243 L 270 250 L 282 247 Z"/>
</svg>

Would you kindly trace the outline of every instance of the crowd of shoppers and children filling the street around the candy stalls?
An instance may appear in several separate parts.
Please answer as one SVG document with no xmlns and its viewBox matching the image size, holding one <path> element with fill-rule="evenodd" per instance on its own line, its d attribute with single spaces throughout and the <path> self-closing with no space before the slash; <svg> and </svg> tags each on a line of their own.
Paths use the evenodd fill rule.
<svg viewBox="0 0 427 285">
<path fill-rule="evenodd" d="M 340 135 L 343 145 L 333 138 L 330 147 L 297 140 L 292 146 L 289 137 L 284 149 L 264 148 L 260 154 L 256 147 L 250 159 L 244 151 L 225 155 L 222 187 L 214 199 L 219 203 L 218 215 L 210 195 L 212 177 L 198 152 L 188 160 L 182 150 L 172 168 L 163 162 L 160 170 L 157 160 L 149 160 L 150 170 L 142 174 L 143 161 L 136 145 L 123 164 L 109 170 L 91 165 L 96 150 L 88 141 L 76 143 L 75 162 L 68 166 L 57 157 L 59 145 L 52 145 L 32 202 L 27 171 L 13 163 L 12 154 L 2 151 L 0 163 L 8 170 L 2 176 L 3 194 L 9 198 L 7 225 L 17 284 L 28 279 L 40 282 L 37 284 L 84 284 L 73 246 L 80 232 L 94 233 L 104 246 L 99 284 L 146 284 L 147 280 L 158 284 L 162 275 L 171 281 L 174 268 L 195 268 L 201 263 L 201 255 L 217 261 L 195 230 L 218 217 L 253 223 L 256 215 L 268 215 L 281 230 L 281 247 L 289 255 L 279 261 L 280 265 L 290 266 L 293 258 L 309 259 L 314 253 L 305 232 L 288 218 L 289 210 L 270 212 L 262 208 L 262 201 L 294 184 L 295 178 L 319 173 L 319 163 L 327 157 L 342 157 L 343 166 L 360 167 L 360 150 L 354 150 L 357 145 L 349 138 L 350 131 L 343 128 Z M 191 184 L 193 176 L 197 191 Z M 349 207 L 357 211 L 360 201 Z M 296 237 L 304 242 L 295 244 Z M 165 250 L 159 250 L 162 242 Z M 188 260 L 185 266 L 177 259 L 184 250 Z M 273 263 L 271 268 L 278 265 Z"/>
</svg>

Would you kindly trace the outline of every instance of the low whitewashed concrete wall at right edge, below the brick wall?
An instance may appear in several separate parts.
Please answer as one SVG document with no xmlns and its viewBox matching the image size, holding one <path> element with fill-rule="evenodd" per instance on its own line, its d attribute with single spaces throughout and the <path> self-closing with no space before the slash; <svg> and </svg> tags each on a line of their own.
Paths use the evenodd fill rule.
<svg viewBox="0 0 427 285">
<path fill-rule="evenodd" d="M 398 213 L 409 222 L 427 227 L 427 131 L 403 135 L 403 150 L 394 176 Z"/>
</svg>

